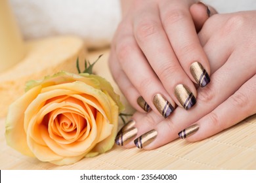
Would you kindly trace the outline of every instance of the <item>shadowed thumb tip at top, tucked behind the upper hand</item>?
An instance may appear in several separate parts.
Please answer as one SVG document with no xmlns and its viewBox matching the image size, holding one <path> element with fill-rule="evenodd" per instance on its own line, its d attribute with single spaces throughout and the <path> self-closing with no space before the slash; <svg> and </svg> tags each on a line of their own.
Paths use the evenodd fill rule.
<svg viewBox="0 0 256 183">
<path fill-rule="evenodd" d="M 199 32 L 205 21 L 212 16 L 213 14 L 217 14 L 217 11 L 213 7 L 207 6 L 202 1 L 191 5 L 190 14 L 194 21 L 194 25 L 196 27 L 196 31 Z"/>
</svg>

